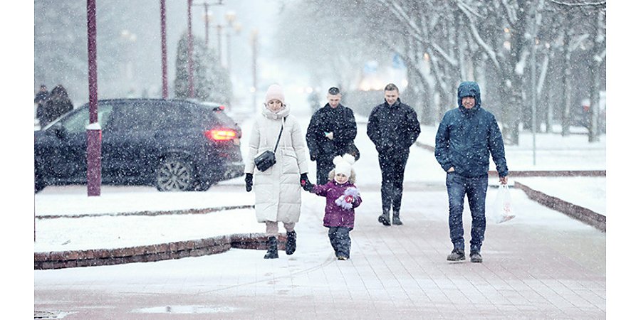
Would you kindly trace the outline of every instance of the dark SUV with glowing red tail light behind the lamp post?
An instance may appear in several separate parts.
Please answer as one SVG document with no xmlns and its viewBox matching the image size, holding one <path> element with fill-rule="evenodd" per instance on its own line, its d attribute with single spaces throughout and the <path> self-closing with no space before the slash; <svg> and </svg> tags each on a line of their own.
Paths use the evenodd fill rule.
<svg viewBox="0 0 641 320">
<path fill-rule="evenodd" d="M 105 184 L 204 191 L 243 174 L 241 129 L 224 107 L 161 99 L 98 101 Z M 35 189 L 87 182 L 89 105 L 35 132 Z"/>
</svg>

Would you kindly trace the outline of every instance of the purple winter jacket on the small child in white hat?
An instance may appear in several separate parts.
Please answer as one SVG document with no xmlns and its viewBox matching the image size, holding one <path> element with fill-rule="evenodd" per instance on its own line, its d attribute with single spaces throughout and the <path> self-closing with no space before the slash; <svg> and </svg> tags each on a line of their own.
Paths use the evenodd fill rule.
<svg viewBox="0 0 641 320">
<path fill-rule="evenodd" d="M 323 218 L 323 225 L 325 227 L 347 227 L 354 228 L 354 208 L 360 206 L 362 199 L 360 196 L 354 197 L 351 209 L 345 209 L 334 201 L 340 196 L 343 196 L 347 188 L 356 188 L 351 182 L 340 184 L 334 180 L 329 181 L 323 185 L 314 186 L 313 193 L 318 196 L 327 198 L 325 204 L 325 218 Z"/>
</svg>

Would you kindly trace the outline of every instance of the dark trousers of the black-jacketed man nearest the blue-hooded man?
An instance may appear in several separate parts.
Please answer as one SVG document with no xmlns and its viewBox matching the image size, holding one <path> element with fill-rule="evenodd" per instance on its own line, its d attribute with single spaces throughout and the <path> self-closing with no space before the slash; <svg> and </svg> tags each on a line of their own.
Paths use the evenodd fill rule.
<svg viewBox="0 0 641 320">
<path fill-rule="evenodd" d="M 403 197 L 403 178 L 405 164 L 410 150 L 390 154 L 378 154 L 378 164 L 382 181 L 380 183 L 380 198 L 383 211 L 399 211 Z"/>
</svg>

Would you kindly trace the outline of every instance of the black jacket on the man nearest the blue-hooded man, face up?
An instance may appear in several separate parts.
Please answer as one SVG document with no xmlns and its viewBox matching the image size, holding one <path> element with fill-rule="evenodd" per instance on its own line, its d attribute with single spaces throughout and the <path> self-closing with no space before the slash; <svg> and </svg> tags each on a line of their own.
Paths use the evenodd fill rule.
<svg viewBox="0 0 641 320">
<path fill-rule="evenodd" d="M 379 154 L 409 152 L 421 133 L 416 112 L 400 98 L 394 105 L 377 105 L 368 119 L 368 137 Z"/>
</svg>

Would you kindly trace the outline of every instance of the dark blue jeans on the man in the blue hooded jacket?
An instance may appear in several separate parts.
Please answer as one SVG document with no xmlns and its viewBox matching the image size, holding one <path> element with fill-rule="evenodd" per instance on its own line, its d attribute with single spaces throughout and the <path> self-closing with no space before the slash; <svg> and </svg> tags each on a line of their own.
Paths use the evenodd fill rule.
<svg viewBox="0 0 641 320">
<path fill-rule="evenodd" d="M 487 176 L 467 178 L 451 172 L 445 182 L 449 198 L 449 238 L 454 248 L 465 249 L 463 239 L 463 201 L 467 195 L 471 211 L 470 251 L 481 251 L 485 238 L 485 196 L 487 193 Z"/>
</svg>

